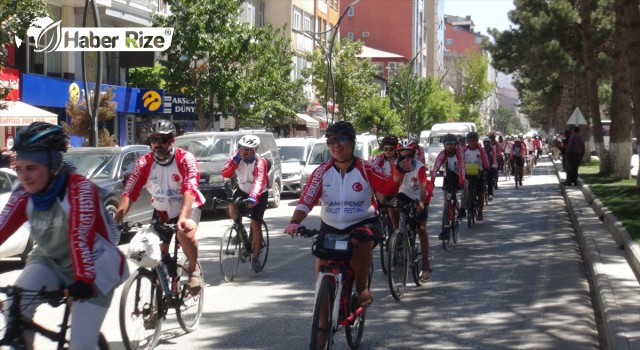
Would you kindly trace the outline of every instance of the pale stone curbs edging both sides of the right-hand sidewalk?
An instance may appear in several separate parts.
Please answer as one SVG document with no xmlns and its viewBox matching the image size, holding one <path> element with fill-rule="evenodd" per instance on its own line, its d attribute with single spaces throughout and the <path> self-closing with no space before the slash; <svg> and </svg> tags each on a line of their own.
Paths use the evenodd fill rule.
<svg viewBox="0 0 640 350">
<path fill-rule="evenodd" d="M 558 180 L 562 182 L 560 176 L 562 170 L 558 169 L 558 164 L 555 162 L 552 161 L 552 164 Z M 582 211 L 588 210 L 588 208 L 593 210 L 595 217 L 598 219 L 597 223 L 604 224 L 606 230 L 616 242 L 617 248 L 624 250 L 624 257 L 636 275 L 636 278 L 640 276 L 640 247 L 631 239 L 629 232 L 622 226 L 622 223 L 602 204 L 602 201 L 593 194 L 589 186 L 580 178 L 578 178 L 578 186 L 588 204 L 588 206 L 583 208 L 577 208 L 580 206 L 580 203 L 577 203 L 578 200 L 576 198 L 569 196 L 566 186 L 560 184 L 560 189 L 567 206 L 571 224 L 576 231 L 581 251 L 587 263 L 589 273 L 591 274 L 594 285 L 593 295 L 596 299 L 595 303 L 602 314 L 603 324 L 601 331 L 603 332 L 602 336 L 606 342 L 605 348 L 620 350 L 631 349 L 626 336 L 627 330 L 622 322 L 621 312 L 614 297 L 613 286 L 609 280 L 609 276 L 602 270 L 604 262 L 600 255 L 600 250 L 592 233 L 584 229 L 587 225 L 596 223 L 596 220 L 591 220 L 592 223 L 585 222 L 589 220 L 584 220 L 583 218 L 578 220 L 576 213 L 581 213 L 581 215 L 588 217 L 589 214 L 583 213 Z"/>
</svg>

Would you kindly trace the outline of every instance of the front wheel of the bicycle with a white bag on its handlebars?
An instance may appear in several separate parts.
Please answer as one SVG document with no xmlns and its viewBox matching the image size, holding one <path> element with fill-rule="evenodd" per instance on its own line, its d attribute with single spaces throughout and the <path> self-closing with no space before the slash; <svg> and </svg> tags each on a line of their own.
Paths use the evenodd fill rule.
<svg viewBox="0 0 640 350">
<path fill-rule="evenodd" d="M 131 274 L 122 289 L 120 334 L 128 350 L 150 350 L 158 343 L 162 330 L 162 288 L 158 283 L 154 272 L 141 268 Z"/>
</svg>

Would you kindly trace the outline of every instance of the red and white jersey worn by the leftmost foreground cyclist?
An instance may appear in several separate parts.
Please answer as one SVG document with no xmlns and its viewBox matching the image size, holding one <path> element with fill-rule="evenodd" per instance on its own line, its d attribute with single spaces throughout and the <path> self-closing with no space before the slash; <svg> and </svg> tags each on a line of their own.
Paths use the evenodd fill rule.
<svg viewBox="0 0 640 350">
<path fill-rule="evenodd" d="M 67 283 L 75 280 L 93 284 L 96 270 L 91 252 L 95 235 L 113 241 L 115 228 L 102 210 L 96 185 L 82 175 L 68 176 L 65 195 L 46 211 L 34 210 L 29 193 L 21 187 L 11 194 L 0 215 L 0 245 L 31 219 L 30 236 L 36 246 L 29 261 L 53 264 L 67 275 Z"/>
</svg>

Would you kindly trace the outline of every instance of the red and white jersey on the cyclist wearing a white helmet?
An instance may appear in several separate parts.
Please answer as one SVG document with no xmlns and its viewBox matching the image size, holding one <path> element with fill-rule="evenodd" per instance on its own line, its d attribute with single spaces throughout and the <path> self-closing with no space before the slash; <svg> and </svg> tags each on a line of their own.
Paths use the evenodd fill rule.
<svg viewBox="0 0 640 350">
<path fill-rule="evenodd" d="M 269 190 L 267 161 L 258 154 L 249 163 L 245 160 L 236 162 L 233 158 L 229 159 L 222 167 L 222 176 L 230 178 L 233 174 L 238 178 L 238 188 L 250 197 L 258 199 L 261 193 Z"/>
</svg>

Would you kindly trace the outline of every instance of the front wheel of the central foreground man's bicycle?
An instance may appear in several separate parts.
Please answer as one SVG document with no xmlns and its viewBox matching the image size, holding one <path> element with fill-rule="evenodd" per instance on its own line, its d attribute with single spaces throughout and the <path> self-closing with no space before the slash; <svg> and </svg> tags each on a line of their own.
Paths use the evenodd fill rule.
<svg viewBox="0 0 640 350">
<path fill-rule="evenodd" d="M 335 300 L 335 281 L 331 278 L 324 278 L 320 283 L 313 309 L 310 350 L 328 350 L 333 346 L 333 304 Z"/>
</svg>

